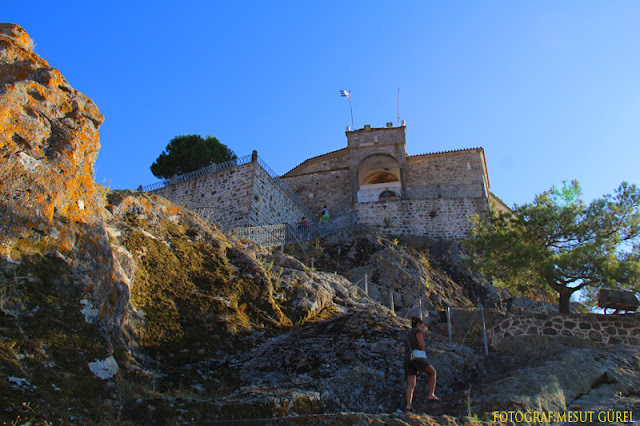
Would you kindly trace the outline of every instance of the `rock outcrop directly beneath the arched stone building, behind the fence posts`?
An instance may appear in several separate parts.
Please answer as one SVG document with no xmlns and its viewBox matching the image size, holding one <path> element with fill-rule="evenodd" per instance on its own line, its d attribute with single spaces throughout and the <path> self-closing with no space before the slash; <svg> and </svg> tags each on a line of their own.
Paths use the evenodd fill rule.
<svg viewBox="0 0 640 426">
<path fill-rule="evenodd" d="M 313 247 L 307 247 L 312 250 Z M 390 241 L 367 230 L 327 238 L 317 254 L 320 269 L 334 270 L 364 287 L 375 301 L 408 317 L 427 315 L 441 320 L 448 306 L 500 305 L 509 294 L 461 267 L 459 243 L 405 237 Z"/>
</svg>

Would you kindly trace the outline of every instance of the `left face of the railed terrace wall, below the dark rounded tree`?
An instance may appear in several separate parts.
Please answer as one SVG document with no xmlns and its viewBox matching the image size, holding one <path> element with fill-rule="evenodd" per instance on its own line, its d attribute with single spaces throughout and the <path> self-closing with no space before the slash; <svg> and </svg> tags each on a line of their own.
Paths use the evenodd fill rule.
<svg viewBox="0 0 640 426">
<path fill-rule="evenodd" d="M 255 163 L 243 164 L 168 185 L 152 193 L 188 209 L 207 208 L 208 219 L 227 230 L 247 223 L 253 197 Z"/>
</svg>

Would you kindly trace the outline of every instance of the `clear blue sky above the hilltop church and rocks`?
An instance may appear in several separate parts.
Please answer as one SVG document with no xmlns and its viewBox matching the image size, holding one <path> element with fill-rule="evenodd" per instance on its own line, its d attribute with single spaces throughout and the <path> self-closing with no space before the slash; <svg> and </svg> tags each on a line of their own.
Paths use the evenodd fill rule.
<svg viewBox="0 0 640 426">
<path fill-rule="evenodd" d="M 169 140 L 211 134 L 283 174 L 356 128 L 407 152 L 482 147 L 508 205 L 578 179 L 640 184 L 638 1 L 2 1 L 105 116 L 95 180 L 151 184 Z"/>
</svg>

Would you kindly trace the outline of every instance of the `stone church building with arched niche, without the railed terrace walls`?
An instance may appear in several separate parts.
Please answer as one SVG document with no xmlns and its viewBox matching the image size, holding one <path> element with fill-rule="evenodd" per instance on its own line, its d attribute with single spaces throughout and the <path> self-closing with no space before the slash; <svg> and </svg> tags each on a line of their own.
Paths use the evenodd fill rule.
<svg viewBox="0 0 640 426">
<path fill-rule="evenodd" d="M 404 126 L 347 129 L 347 147 L 306 160 L 282 179 L 312 211 L 353 212 L 388 235 L 464 238 L 489 211 L 482 148 L 409 156 Z"/>
</svg>

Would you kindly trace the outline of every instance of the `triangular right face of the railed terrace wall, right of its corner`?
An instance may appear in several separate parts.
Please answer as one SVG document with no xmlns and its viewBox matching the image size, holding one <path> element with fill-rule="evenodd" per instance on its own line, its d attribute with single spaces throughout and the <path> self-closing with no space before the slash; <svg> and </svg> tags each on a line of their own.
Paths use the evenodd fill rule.
<svg viewBox="0 0 640 426">
<path fill-rule="evenodd" d="M 255 168 L 249 221 L 252 225 L 295 223 L 306 213 L 260 166 Z"/>
</svg>

